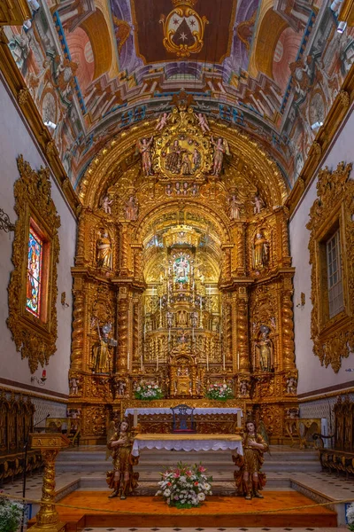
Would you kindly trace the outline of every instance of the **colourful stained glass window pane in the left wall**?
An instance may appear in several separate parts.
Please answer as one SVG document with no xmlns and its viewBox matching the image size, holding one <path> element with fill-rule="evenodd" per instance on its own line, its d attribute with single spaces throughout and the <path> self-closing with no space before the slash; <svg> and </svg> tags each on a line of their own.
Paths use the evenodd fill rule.
<svg viewBox="0 0 354 532">
<path fill-rule="evenodd" d="M 43 241 L 33 227 L 30 227 L 27 252 L 26 309 L 35 317 L 40 317 L 41 315 L 42 254 Z"/>
</svg>

